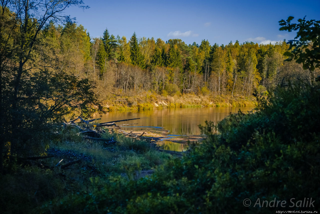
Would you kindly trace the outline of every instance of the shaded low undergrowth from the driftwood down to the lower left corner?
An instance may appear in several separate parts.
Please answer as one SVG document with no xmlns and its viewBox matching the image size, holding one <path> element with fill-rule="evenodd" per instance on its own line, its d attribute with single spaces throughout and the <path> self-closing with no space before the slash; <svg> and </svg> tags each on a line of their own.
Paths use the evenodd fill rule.
<svg viewBox="0 0 320 214">
<path fill-rule="evenodd" d="M 73 127 L 63 129 L 39 160 L 20 159 L 0 178 L 1 213 L 31 213 L 43 203 L 68 194 L 92 194 L 108 185 L 110 178 L 137 179 L 140 172 L 164 163 L 171 155 L 154 144 L 106 133 L 116 144 L 84 140 Z M 61 163 L 56 166 L 56 164 Z M 80 160 L 62 169 L 63 164 Z"/>
</svg>

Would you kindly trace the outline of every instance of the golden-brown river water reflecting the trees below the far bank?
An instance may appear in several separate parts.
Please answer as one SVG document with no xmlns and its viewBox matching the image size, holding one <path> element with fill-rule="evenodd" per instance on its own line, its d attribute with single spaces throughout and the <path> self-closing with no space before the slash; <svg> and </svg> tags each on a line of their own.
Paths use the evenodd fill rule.
<svg viewBox="0 0 320 214">
<path fill-rule="evenodd" d="M 250 111 L 253 107 L 205 107 L 205 108 L 168 108 L 161 110 L 149 111 L 131 111 L 120 112 L 111 111 L 104 114 L 101 118 L 102 122 L 113 120 L 122 120 L 130 118 L 141 118 L 138 120 L 127 121 L 124 123 L 138 123 L 137 125 L 128 125 L 123 127 L 126 130 L 141 130 L 148 127 L 153 129 L 163 128 L 169 130 L 168 134 L 174 135 L 199 135 L 199 124 L 204 125 L 205 121 L 213 121 L 216 125 L 223 118 L 231 113 Z M 121 123 L 117 123 L 121 124 Z"/>
</svg>

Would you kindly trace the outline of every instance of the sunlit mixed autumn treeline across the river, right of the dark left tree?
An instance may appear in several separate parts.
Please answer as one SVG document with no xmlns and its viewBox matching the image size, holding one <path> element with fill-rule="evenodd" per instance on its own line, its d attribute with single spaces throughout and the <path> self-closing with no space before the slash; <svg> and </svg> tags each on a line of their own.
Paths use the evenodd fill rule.
<svg viewBox="0 0 320 214">
<path fill-rule="evenodd" d="M 289 45 L 253 42 L 211 45 L 202 40 L 187 45 L 180 39 L 110 35 L 91 38 L 75 23 L 45 27 L 44 39 L 59 53 L 68 71 L 97 82 L 97 93 L 150 90 L 170 94 L 196 93 L 250 96 L 272 90 L 284 77 L 314 80 L 295 62 L 284 61 Z"/>
</svg>

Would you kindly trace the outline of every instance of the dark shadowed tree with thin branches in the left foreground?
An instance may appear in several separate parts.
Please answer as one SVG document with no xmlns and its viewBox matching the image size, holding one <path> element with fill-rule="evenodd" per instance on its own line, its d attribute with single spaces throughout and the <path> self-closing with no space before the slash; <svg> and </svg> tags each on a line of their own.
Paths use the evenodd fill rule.
<svg viewBox="0 0 320 214">
<path fill-rule="evenodd" d="M 57 63 L 55 30 L 45 33 L 50 21 L 70 21 L 62 13 L 69 6 L 87 7 L 80 0 L 1 1 L 1 170 L 3 154 L 10 168 L 16 157 L 41 150 L 57 121 L 70 112 L 88 116 L 98 104 L 92 82 Z"/>
</svg>

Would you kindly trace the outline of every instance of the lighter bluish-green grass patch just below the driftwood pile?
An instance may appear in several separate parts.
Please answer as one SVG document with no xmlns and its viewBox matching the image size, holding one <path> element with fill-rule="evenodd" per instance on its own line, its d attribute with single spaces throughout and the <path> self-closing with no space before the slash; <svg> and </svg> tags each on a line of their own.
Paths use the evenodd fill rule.
<svg viewBox="0 0 320 214">
<path fill-rule="evenodd" d="M 75 133 L 65 136 L 68 139 L 77 139 Z M 105 145 L 102 141 L 76 140 L 60 141 L 51 147 L 60 150 L 71 150 L 77 154 L 92 157 L 94 165 L 99 166 L 99 173 L 103 176 L 119 175 L 126 168 L 145 170 L 161 164 L 170 156 L 156 150 L 155 145 L 144 140 L 125 137 L 123 134 L 104 134 L 103 138 L 112 138 L 116 145 Z M 138 167 L 139 166 L 139 167 Z"/>
</svg>

